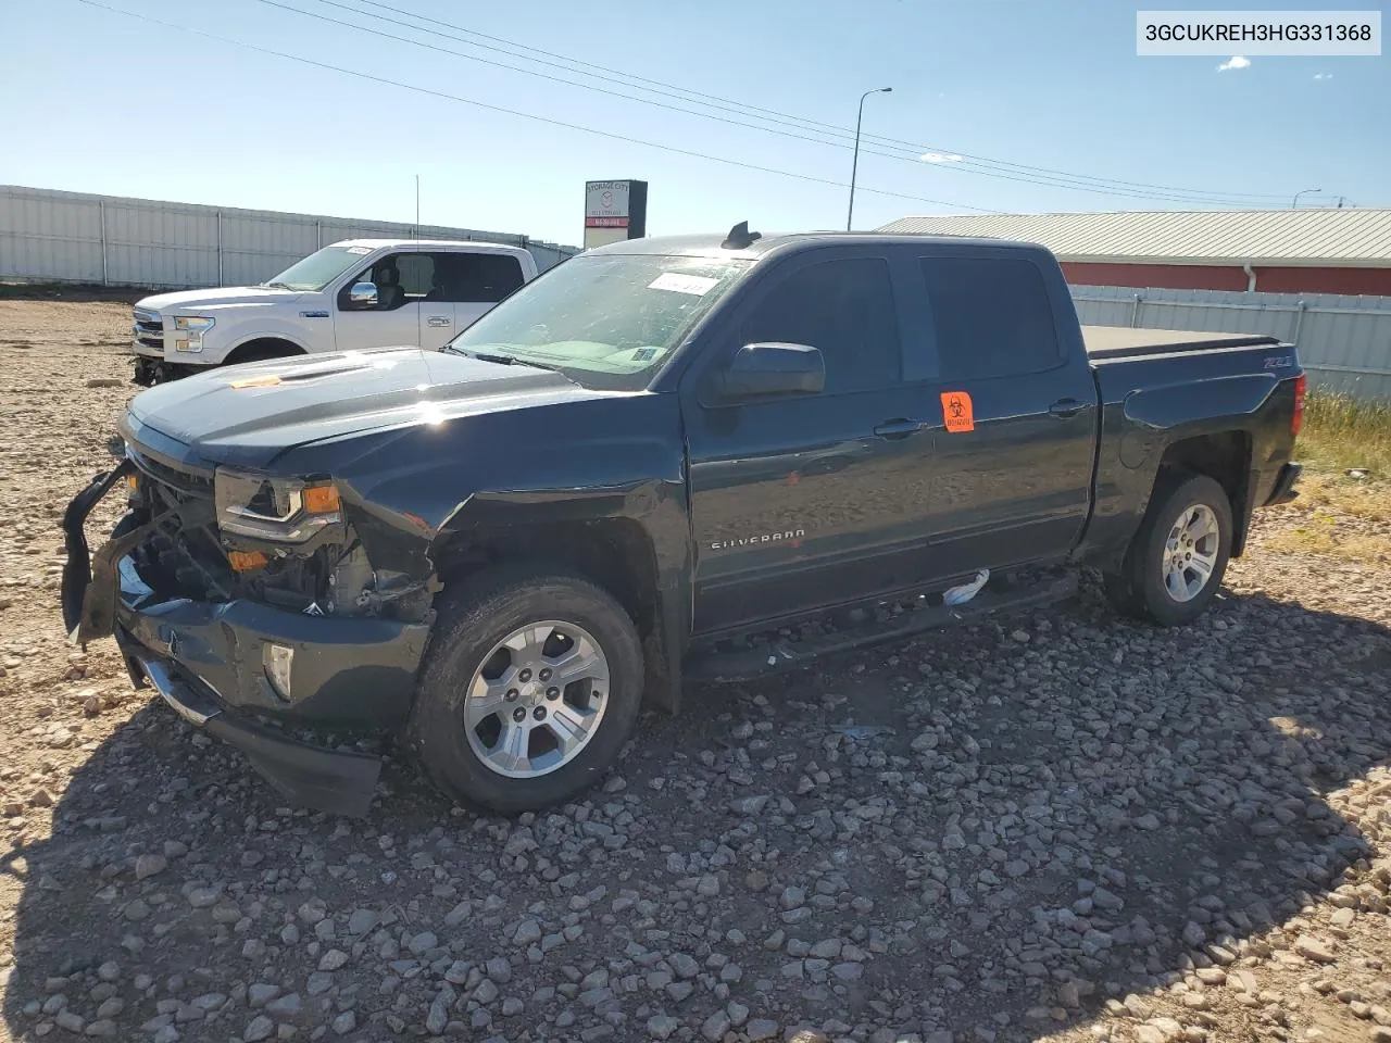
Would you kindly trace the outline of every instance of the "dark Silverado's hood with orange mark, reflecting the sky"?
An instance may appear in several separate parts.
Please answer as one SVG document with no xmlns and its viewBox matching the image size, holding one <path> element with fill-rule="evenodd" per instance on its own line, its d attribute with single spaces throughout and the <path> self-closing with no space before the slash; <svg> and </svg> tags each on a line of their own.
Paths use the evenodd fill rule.
<svg viewBox="0 0 1391 1043">
<path fill-rule="evenodd" d="M 271 359 L 160 384 L 135 396 L 124 427 L 138 444 L 189 463 L 266 467 L 309 442 L 605 394 L 549 370 L 378 348 Z"/>
</svg>

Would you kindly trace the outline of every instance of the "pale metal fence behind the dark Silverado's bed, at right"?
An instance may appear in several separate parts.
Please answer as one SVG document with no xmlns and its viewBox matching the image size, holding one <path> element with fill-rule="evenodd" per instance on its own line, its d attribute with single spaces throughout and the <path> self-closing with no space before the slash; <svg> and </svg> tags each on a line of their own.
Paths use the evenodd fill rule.
<svg viewBox="0 0 1391 1043">
<path fill-rule="evenodd" d="M 1391 399 L 1391 298 L 1071 286 L 1084 325 L 1269 334 L 1299 348 L 1309 380 Z"/>
</svg>

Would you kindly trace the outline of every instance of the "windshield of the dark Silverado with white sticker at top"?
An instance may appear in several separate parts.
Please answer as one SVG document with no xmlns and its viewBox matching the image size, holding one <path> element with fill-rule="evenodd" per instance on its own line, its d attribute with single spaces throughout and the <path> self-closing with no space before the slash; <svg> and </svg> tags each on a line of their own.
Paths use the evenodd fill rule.
<svg viewBox="0 0 1391 1043">
<path fill-rule="evenodd" d="M 504 300 L 447 349 L 558 369 L 590 388 L 637 391 L 748 266 L 581 254 Z"/>
</svg>

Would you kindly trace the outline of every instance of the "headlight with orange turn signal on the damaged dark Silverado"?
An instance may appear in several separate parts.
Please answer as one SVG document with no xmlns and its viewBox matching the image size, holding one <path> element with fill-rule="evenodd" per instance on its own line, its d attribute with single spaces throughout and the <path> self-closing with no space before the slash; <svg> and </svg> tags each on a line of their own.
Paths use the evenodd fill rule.
<svg viewBox="0 0 1391 1043">
<path fill-rule="evenodd" d="M 342 499 L 331 481 L 277 478 L 218 467 L 213 480 L 217 526 L 224 533 L 280 544 L 302 544 L 342 522 Z"/>
</svg>

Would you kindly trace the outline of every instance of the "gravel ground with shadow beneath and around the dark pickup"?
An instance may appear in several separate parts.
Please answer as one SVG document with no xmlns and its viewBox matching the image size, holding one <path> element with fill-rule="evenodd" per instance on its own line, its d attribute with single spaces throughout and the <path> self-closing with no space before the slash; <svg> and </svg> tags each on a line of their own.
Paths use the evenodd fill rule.
<svg viewBox="0 0 1391 1043">
<path fill-rule="evenodd" d="M 128 314 L 0 300 L 0 1036 L 1391 1042 L 1385 563 L 1273 512 L 1192 629 L 1088 590 L 696 688 L 583 802 L 388 763 L 348 822 L 64 642 Z"/>
</svg>

